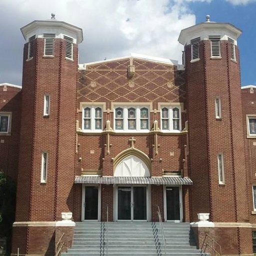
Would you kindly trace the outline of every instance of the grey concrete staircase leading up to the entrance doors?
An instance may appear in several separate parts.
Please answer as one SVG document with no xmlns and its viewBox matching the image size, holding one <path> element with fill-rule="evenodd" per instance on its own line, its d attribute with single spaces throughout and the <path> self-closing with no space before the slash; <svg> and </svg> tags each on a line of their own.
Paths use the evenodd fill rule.
<svg viewBox="0 0 256 256">
<path fill-rule="evenodd" d="M 166 255 L 199 256 L 191 246 L 189 223 L 163 223 Z M 189 240 L 190 239 L 190 240 Z M 164 256 L 158 222 L 76 222 L 73 244 L 62 256 Z"/>
</svg>

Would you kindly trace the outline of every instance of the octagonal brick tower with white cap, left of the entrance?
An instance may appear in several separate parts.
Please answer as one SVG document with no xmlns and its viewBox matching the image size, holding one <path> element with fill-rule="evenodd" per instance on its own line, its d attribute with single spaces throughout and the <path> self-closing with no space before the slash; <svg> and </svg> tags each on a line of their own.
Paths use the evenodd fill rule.
<svg viewBox="0 0 256 256">
<path fill-rule="evenodd" d="M 26 43 L 12 253 L 19 248 L 21 254 L 52 255 L 61 212 L 73 209 L 77 45 L 82 30 L 52 14 L 21 32 Z"/>
</svg>

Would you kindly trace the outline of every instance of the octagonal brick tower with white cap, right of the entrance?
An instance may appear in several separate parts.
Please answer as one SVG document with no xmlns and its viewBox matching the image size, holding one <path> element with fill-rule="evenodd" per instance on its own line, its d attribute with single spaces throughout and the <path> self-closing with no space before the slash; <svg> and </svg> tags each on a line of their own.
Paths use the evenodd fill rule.
<svg viewBox="0 0 256 256">
<path fill-rule="evenodd" d="M 184 45 L 187 82 L 191 220 L 208 212 L 211 221 L 194 225 L 194 231 L 199 244 L 210 231 L 222 253 L 242 255 L 252 251 L 236 43 L 240 33 L 207 15 L 206 22 L 183 29 L 178 40 Z"/>
</svg>

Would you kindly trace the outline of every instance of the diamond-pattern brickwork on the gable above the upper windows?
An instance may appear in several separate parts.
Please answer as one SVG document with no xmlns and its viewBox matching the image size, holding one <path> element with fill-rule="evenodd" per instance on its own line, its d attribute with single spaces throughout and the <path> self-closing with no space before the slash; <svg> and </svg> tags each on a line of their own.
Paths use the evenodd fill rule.
<svg viewBox="0 0 256 256">
<path fill-rule="evenodd" d="M 135 74 L 127 78 L 129 58 L 87 66 L 79 70 L 77 104 L 79 102 L 184 102 L 184 71 L 176 66 L 133 59 Z M 131 87 L 131 82 L 134 85 Z M 107 104 L 110 107 L 110 104 Z"/>
</svg>

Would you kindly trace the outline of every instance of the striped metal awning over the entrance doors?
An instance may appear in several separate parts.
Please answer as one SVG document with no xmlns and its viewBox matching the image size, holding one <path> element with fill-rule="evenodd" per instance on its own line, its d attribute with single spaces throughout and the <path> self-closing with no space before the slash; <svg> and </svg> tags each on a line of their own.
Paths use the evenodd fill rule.
<svg viewBox="0 0 256 256">
<path fill-rule="evenodd" d="M 151 184 L 151 185 L 192 185 L 190 178 L 182 177 L 114 177 L 75 176 L 74 183 L 83 184 Z"/>
</svg>

